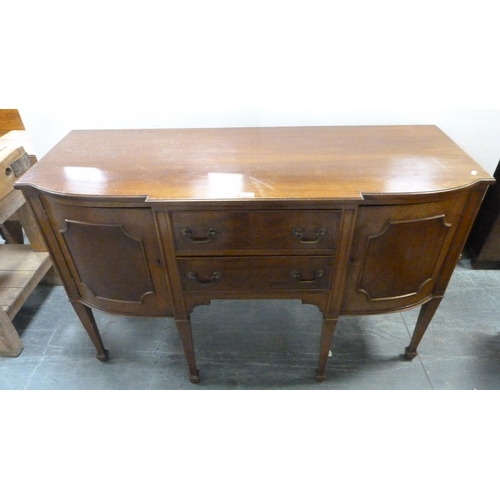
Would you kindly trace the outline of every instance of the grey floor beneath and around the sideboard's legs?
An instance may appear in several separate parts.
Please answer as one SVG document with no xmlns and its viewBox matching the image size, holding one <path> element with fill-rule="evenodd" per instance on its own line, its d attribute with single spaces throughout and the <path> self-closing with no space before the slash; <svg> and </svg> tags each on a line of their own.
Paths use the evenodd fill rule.
<svg viewBox="0 0 500 500">
<path fill-rule="evenodd" d="M 96 312 L 101 363 L 60 286 L 40 284 L 14 320 L 24 343 L 0 358 L 0 389 L 500 389 L 500 271 L 463 259 L 413 361 L 418 310 L 342 317 L 328 378 L 314 381 L 321 314 L 298 301 L 213 301 L 192 314 L 201 382 L 188 380 L 171 319 Z"/>
</svg>

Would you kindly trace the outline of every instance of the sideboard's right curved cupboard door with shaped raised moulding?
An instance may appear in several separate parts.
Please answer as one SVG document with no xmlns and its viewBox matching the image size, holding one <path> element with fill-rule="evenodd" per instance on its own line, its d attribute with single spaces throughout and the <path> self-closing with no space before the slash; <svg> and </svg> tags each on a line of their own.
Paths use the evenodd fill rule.
<svg viewBox="0 0 500 500">
<path fill-rule="evenodd" d="M 431 298 L 467 197 L 361 206 L 341 314 L 383 313 Z"/>
</svg>

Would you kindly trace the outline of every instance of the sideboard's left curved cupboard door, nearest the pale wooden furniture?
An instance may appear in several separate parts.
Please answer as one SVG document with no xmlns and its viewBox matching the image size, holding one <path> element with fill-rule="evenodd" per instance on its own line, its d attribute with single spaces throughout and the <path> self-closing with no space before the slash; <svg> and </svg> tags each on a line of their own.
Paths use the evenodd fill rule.
<svg viewBox="0 0 500 500">
<path fill-rule="evenodd" d="M 42 203 L 82 302 L 120 314 L 173 314 L 152 210 Z"/>
</svg>

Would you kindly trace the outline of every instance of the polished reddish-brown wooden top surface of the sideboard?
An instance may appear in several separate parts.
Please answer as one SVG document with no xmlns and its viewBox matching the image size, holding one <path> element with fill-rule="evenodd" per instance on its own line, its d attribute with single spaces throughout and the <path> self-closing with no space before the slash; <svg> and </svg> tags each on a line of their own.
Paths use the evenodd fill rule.
<svg viewBox="0 0 500 500">
<path fill-rule="evenodd" d="M 77 130 L 16 187 L 150 200 L 359 200 L 493 182 L 435 126 Z"/>
</svg>

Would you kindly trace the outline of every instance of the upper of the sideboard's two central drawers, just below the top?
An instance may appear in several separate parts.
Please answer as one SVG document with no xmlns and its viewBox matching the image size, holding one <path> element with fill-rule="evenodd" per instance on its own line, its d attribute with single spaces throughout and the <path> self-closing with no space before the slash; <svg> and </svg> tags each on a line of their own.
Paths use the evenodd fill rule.
<svg viewBox="0 0 500 500">
<path fill-rule="evenodd" d="M 173 212 L 175 245 L 188 253 L 335 249 L 340 210 Z"/>
</svg>

